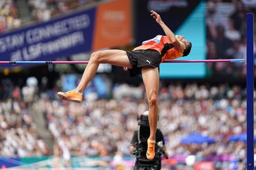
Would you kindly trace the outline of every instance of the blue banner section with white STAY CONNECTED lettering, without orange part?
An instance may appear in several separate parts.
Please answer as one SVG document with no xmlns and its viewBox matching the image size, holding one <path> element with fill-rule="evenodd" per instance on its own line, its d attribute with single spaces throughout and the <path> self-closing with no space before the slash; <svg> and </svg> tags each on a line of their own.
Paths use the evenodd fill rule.
<svg viewBox="0 0 256 170">
<path fill-rule="evenodd" d="M 95 10 L 92 8 L 0 35 L 0 60 L 51 61 L 90 51 Z"/>
</svg>

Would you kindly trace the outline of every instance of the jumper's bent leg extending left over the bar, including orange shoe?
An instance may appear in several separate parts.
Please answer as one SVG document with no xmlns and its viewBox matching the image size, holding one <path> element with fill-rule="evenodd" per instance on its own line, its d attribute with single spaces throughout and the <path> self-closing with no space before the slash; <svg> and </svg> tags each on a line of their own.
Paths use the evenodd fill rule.
<svg viewBox="0 0 256 170">
<path fill-rule="evenodd" d="M 108 63 L 117 66 L 132 68 L 129 58 L 125 51 L 122 50 L 105 50 L 94 52 L 91 55 L 86 69 L 84 69 L 80 83 L 75 90 L 67 93 L 58 92 L 58 96 L 67 101 L 81 102 L 82 92 L 86 89 L 88 83 L 92 80 L 100 63 Z"/>
</svg>

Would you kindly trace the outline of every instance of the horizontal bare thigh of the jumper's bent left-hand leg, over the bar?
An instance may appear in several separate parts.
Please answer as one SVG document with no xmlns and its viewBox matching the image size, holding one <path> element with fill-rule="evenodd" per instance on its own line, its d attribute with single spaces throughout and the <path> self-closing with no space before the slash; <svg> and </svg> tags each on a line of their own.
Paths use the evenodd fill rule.
<svg viewBox="0 0 256 170">
<path fill-rule="evenodd" d="M 129 58 L 123 50 L 104 50 L 97 52 L 101 63 L 109 63 L 117 66 L 132 68 Z"/>
</svg>

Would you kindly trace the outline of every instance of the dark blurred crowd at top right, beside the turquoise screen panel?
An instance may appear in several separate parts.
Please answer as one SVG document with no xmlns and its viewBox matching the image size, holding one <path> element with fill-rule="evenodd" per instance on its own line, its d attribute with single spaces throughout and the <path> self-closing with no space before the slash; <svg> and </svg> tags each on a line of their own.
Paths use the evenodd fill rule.
<svg viewBox="0 0 256 170">
<path fill-rule="evenodd" d="M 207 1 L 207 59 L 246 58 L 246 13 L 249 12 L 256 12 L 255 1 Z M 254 58 L 255 47 L 254 43 Z M 239 63 L 208 63 L 207 68 L 209 75 L 225 73 L 244 77 L 246 74 L 246 65 Z"/>
</svg>

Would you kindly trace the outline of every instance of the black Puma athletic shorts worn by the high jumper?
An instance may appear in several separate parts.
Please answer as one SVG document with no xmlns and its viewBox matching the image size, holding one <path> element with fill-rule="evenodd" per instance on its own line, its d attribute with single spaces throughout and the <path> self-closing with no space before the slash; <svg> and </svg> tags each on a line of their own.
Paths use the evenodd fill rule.
<svg viewBox="0 0 256 170">
<path fill-rule="evenodd" d="M 160 53 L 156 50 L 126 51 L 126 54 L 133 66 L 132 69 L 129 69 L 131 77 L 141 74 L 142 67 L 146 65 L 150 65 L 153 68 L 158 67 L 159 69 L 159 64 L 162 60 Z"/>
</svg>

